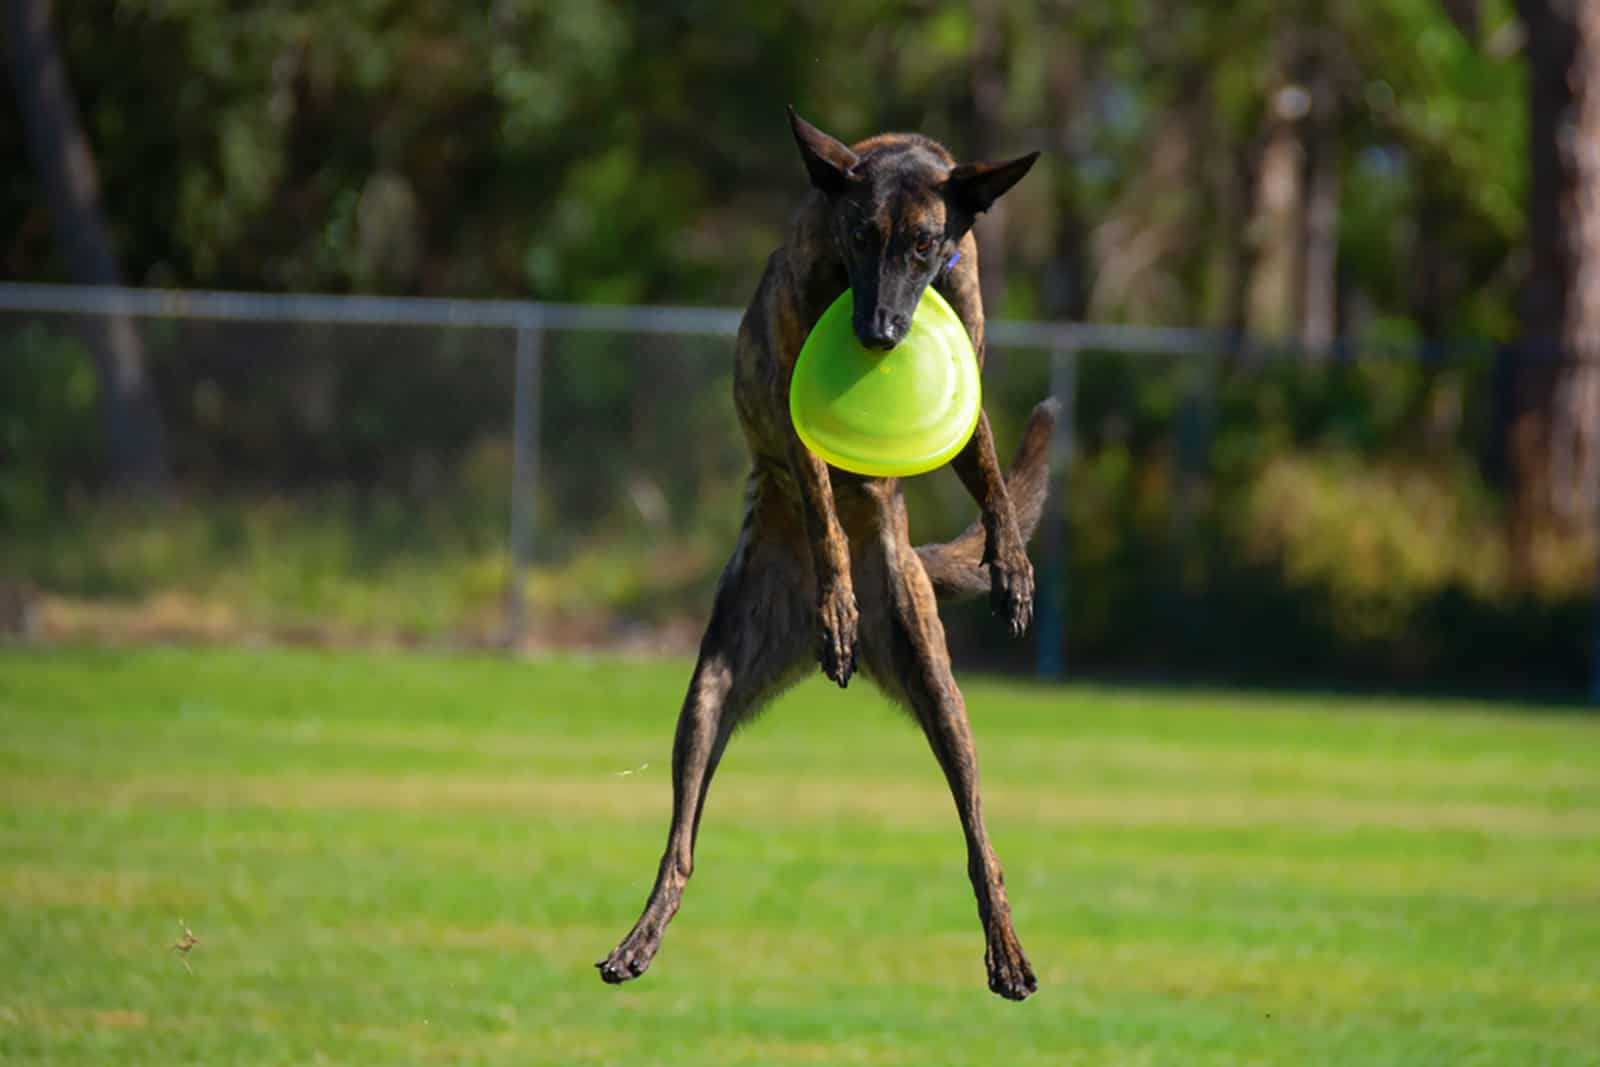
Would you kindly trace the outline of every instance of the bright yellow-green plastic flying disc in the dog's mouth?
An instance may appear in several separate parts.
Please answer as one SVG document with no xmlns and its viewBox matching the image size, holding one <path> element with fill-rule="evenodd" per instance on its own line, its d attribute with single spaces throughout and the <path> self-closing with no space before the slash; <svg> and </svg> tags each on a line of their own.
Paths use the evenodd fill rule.
<svg viewBox="0 0 1600 1067">
<path fill-rule="evenodd" d="M 933 288 L 906 339 L 874 352 L 850 328 L 850 290 L 822 312 L 789 381 L 800 440 L 840 470 L 877 478 L 942 467 L 978 429 L 982 386 L 966 326 Z"/>
</svg>

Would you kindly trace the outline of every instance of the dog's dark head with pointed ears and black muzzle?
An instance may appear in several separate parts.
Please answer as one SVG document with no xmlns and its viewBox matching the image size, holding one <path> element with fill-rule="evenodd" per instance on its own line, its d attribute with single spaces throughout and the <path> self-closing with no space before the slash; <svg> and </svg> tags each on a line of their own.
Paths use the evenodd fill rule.
<svg viewBox="0 0 1600 1067">
<path fill-rule="evenodd" d="M 1005 163 L 950 162 L 920 136 L 862 142 L 858 154 L 789 109 L 800 157 L 829 206 L 829 234 L 850 274 L 851 326 L 869 349 L 893 349 L 979 213 L 1019 182 L 1038 152 Z"/>
</svg>

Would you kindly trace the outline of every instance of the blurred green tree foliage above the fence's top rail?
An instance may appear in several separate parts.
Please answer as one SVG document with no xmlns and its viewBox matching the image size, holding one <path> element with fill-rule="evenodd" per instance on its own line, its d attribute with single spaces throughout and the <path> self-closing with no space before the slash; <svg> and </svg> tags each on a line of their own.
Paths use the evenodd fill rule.
<svg viewBox="0 0 1600 1067">
<path fill-rule="evenodd" d="M 1218 322 L 1235 266 L 1216 250 L 1242 226 L 1235 171 L 1296 40 L 1338 82 L 1350 296 L 1376 318 L 1413 315 L 1394 264 L 1426 206 L 1458 264 L 1450 299 L 1470 312 L 1458 322 L 1498 333 L 1514 318 L 1506 259 L 1526 187 L 1520 62 L 1491 46 L 1509 18 L 1485 5 L 1485 42 L 1469 42 L 1437 0 L 58 11 L 136 282 L 739 301 L 803 189 L 782 122 L 794 102 L 846 138 L 910 126 L 958 154 L 979 138 L 1046 149 L 1008 205 L 1013 310 L 1054 306 L 1042 285 L 1082 256 L 1074 227 L 1110 242 L 1074 262 L 1088 280 L 1117 235 L 1155 227 L 1163 254 L 1141 272 L 1170 282 L 1126 282 L 1163 296 L 1106 309 Z M 981 42 L 994 54 L 974 56 Z M 976 62 L 1003 86 L 998 109 L 979 109 L 973 82 L 990 74 Z M 16 123 L 0 112 L 10 158 Z M 1173 136 L 1189 138 L 1187 158 L 1152 168 Z M 0 219 L 21 235 L 10 270 L 51 274 L 26 168 L 0 179 Z"/>
</svg>

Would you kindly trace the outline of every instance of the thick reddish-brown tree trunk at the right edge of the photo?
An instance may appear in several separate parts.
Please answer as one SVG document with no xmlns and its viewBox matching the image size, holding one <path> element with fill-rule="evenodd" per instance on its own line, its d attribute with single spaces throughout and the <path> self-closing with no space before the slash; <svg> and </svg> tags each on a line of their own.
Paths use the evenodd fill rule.
<svg viewBox="0 0 1600 1067">
<path fill-rule="evenodd" d="M 1531 107 L 1523 344 L 1507 451 L 1525 582 L 1546 533 L 1600 518 L 1600 8 L 1523 0 Z"/>
</svg>

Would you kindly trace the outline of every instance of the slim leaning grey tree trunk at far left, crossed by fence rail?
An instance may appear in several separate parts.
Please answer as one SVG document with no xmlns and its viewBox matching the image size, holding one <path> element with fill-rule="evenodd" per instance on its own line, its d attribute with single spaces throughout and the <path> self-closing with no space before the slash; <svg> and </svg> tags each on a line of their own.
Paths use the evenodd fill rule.
<svg viewBox="0 0 1600 1067">
<path fill-rule="evenodd" d="M 50 26 L 50 0 L 6 0 L 6 38 L 29 154 L 67 270 L 80 285 L 122 285 L 94 157 Z M 91 315 L 88 334 L 112 477 L 130 488 L 158 488 L 166 482 L 162 421 L 139 333 L 128 315 Z"/>
</svg>

